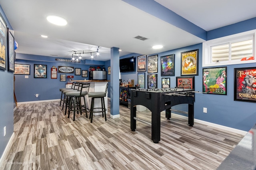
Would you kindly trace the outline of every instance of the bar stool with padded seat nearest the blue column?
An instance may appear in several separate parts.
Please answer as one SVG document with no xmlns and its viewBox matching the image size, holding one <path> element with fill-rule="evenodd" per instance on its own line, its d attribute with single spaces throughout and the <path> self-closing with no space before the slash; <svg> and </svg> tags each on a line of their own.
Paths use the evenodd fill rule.
<svg viewBox="0 0 256 170">
<path fill-rule="evenodd" d="M 102 112 L 102 117 L 104 117 L 104 115 L 105 115 L 105 121 L 107 121 L 107 117 L 106 117 L 106 110 L 107 109 L 105 107 L 105 101 L 104 101 L 104 97 L 106 97 L 107 91 L 108 91 L 108 83 L 106 84 L 105 92 L 90 92 L 90 93 L 88 93 L 88 97 L 92 98 L 91 107 L 90 107 L 90 110 L 89 110 L 90 111 L 89 119 L 91 119 L 91 123 L 92 123 L 93 113 L 98 113 L 98 112 Z M 95 98 L 100 98 L 101 107 L 94 107 L 94 99 Z M 94 109 L 101 109 L 101 110 L 100 111 L 94 111 Z"/>
</svg>

